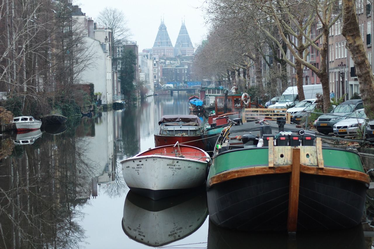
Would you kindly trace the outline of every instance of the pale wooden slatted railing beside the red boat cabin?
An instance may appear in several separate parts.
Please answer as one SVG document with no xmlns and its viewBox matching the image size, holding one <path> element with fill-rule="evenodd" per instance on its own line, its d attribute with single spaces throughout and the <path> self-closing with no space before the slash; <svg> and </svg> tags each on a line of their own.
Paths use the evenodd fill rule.
<svg viewBox="0 0 374 249">
<path fill-rule="evenodd" d="M 249 120 L 268 119 L 277 120 L 277 117 L 286 117 L 286 123 L 289 124 L 291 114 L 286 113 L 286 108 L 245 108 L 242 113 L 242 122 Z"/>
</svg>

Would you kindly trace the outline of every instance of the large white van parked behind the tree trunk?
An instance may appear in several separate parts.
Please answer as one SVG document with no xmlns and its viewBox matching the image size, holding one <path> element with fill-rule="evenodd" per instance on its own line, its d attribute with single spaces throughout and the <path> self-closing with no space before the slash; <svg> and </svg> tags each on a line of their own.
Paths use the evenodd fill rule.
<svg viewBox="0 0 374 249">
<path fill-rule="evenodd" d="M 316 93 L 322 94 L 322 85 L 305 85 L 303 86 L 305 99 L 316 98 Z M 274 105 L 269 105 L 268 108 L 285 108 L 286 106 L 292 107 L 299 102 L 299 95 L 297 92 L 297 86 L 288 87 L 283 93 L 279 100 Z"/>
</svg>

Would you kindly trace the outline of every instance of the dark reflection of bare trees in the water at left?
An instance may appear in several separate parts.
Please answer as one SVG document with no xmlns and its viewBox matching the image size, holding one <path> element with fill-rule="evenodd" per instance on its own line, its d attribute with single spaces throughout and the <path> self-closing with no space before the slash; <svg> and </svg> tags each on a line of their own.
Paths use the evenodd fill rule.
<svg viewBox="0 0 374 249">
<path fill-rule="evenodd" d="M 91 122 L 80 127 L 92 133 Z M 0 248 L 78 248 L 85 240 L 76 222 L 84 214 L 76 207 L 90 197 L 92 162 L 79 129 L 68 127 L 32 145 L 1 140 Z"/>
</svg>

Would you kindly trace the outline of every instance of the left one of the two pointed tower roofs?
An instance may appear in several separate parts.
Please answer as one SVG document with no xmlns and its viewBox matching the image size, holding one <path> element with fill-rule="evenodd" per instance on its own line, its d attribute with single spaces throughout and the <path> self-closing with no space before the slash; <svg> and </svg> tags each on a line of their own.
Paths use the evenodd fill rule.
<svg viewBox="0 0 374 249">
<path fill-rule="evenodd" d="M 174 57 L 174 47 L 171 44 L 171 40 L 163 20 L 161 20 L 159 31 L 157 32 L 156 39 L 154 40 L 152 50 L 153 55 L 158 55 L 164 58 Z"/>
</svg>

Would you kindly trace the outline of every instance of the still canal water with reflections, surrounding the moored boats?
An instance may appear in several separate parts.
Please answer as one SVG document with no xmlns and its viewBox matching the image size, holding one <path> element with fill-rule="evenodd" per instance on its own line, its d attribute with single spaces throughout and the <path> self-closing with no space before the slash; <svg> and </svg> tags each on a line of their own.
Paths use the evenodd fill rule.
<svg viewBox="0 0 374 249">
<path fill-rule="evenodd" d="M 129 192 L 121 160 L 154 147 L 161 116 L 190 114 L 188 97 L 150 96 L 70 119 L 31 134 L 32 144 L 13 142 L 30 134 L 1 139 L 0 248 L 372 248 L 368 224 L 296 238 L 248 234 L 209 222 L 203 187 L 159 201 Z"/>
</svg>

